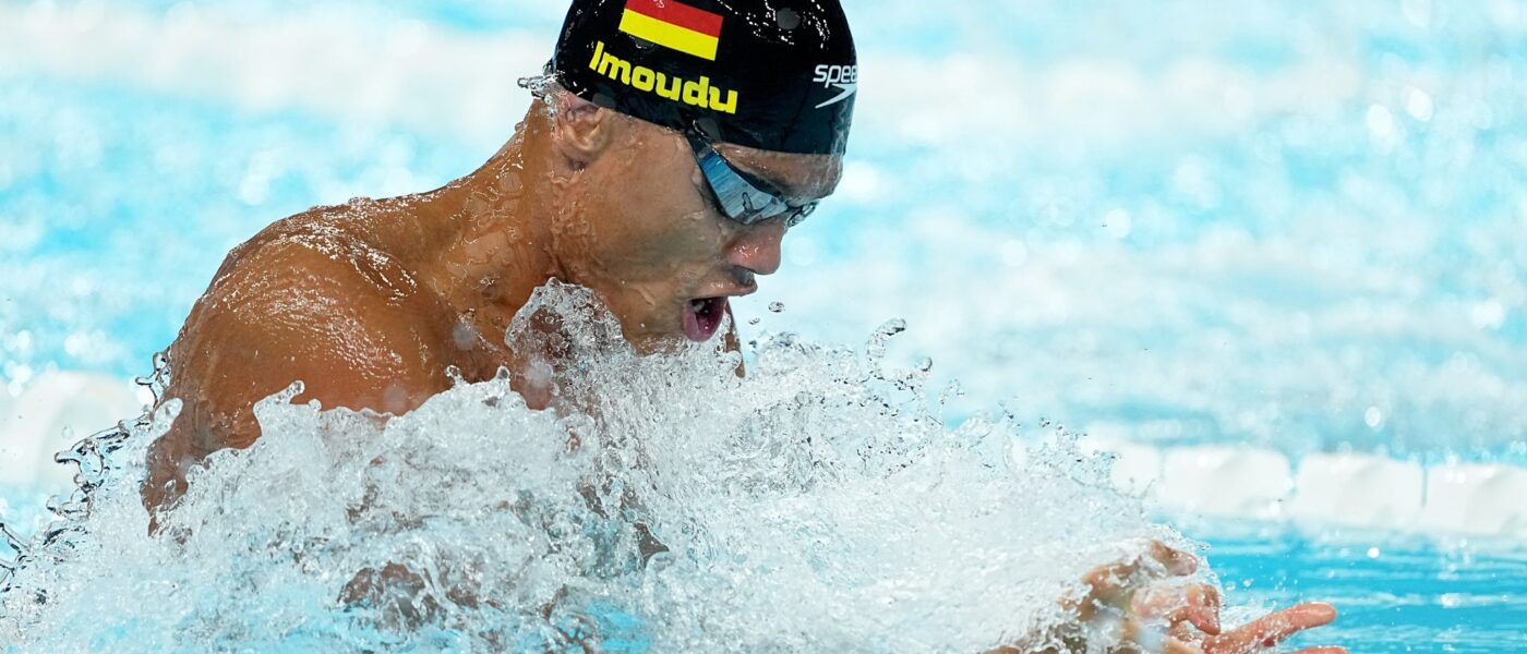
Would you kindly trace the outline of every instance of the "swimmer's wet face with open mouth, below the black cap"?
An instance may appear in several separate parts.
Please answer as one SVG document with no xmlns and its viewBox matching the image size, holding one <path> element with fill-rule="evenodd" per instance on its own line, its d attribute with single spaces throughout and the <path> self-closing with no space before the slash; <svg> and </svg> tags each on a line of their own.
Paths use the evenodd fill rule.
<svg viewBox="0 0 1527 654">
<path fill-rule="evenodd" d="M 725 218 L 683 136 L 586 110 L 600 116 L 565 117 L 597 128 L 567 130 L 571 137 L 594 136 L 582 148 L 588 159 L 573 166 L 554 227 L 562 268 L 571 282 L 605 299 L 641 349 L 710 340 L 727 314 L 727 299 L 757 291 L 756 277 L 779 270 L 785 216 L 751 226 Z M 716 151 L 739 171 L 782 189 L 793 204 L 829 195 L 841 177 L 840 157 L 725 143 Z"/>
</svg>

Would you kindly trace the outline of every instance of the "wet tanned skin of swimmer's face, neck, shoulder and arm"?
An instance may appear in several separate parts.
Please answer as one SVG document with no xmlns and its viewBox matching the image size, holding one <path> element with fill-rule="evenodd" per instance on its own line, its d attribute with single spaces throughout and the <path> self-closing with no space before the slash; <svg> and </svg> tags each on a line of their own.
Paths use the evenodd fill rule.
<svg viewBox="0 0 1527 654">
<path fill-rule="evenodd" d="M 797 201 L 841 175 L 838 157 L 718 149 Z M 150 451 L 144 503 L 169 505 L 208 454 L 252 445 L 250 409 L 295 380 L 298 402 L 400 415 L 446 390 L 449 366 L 469 381 L 521 370 L 533 354 L 504 332 L 550 279 L 597 291 L 640 351 L 709 338 L 719 299 L 779 268 L 783 223 L 724 218 L 680 134 L 551 91 L 472 175 L 313 209 L 229 253 L 169 348 L 166 396 L 183 407 Z M 695 334 L 702 299 L 715 316 Z M 516 390 L 547 406 L 547 389 Z"/>
</svg>

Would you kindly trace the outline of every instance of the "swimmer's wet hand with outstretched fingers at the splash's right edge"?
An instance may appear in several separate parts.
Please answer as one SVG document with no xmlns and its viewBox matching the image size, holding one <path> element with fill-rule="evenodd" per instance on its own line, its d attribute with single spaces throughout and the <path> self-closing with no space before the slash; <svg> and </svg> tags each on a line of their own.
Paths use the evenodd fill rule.
<svg viewBox="0 0 1527 654">
<path fill-rule="evenodd" d="M 1110 642 L 1122 640 L 1125 651 L 1168 654 L 1260 652 L 1289 636 L 1336 619 L 1336 608 L 1330 604 L 1304 602 L 1222 631 L 1219 590 L 1208 584 L 1186 582 L 1186 576 L 1197 569 L 1199 561 L 1193 555 L 1154 541 L 1147 553 L 1132 561 L 1087 573 L 1083 578 L 1089 587 L 1087 595 L 1063 605 L 1081 617 L 1084 634 L 1096 634 Z M 1086 643 L 1075 645 L 1086 651 Z M 1299 649 L 1296 654 L 1345 651 L 1339 646 L 1319 646 Z"/>
</svg>

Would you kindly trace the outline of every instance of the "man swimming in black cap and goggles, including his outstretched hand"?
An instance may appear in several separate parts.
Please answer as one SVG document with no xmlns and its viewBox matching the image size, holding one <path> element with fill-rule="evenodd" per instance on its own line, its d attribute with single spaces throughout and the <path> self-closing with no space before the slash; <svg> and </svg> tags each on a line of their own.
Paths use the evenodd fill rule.
<svg viewBox="0 0 1527 654">
<path fill-rule="evenodd" d="M 524 372 L 504 332 L 551 279 L 594 290 L 640 351 L 715 338 L 728 299 L 779 268 L 785 232 L 837 186 L 858 84 L 835 0 L 728 5 L 577 0 L 524 123 L 476 172 L 313 209 L 234 248 L 171 346 L 166 396 L 183 410 L 153 444 L 145 505 L 168 508 L 191 466 L 253 444 L 252 406 L 293 380 L 298 401 L 399 415 L 446 390 L 447 367 Z M 516 390 L 545 407 L 527 378 Z M 1211 652 L 1333 617 L 1307 604 L 1220 634 L 1211 588 L 1156 584 L 1196 563 L 1145 559 L 1099 569 L 1077 610 Z"/>
</svg>

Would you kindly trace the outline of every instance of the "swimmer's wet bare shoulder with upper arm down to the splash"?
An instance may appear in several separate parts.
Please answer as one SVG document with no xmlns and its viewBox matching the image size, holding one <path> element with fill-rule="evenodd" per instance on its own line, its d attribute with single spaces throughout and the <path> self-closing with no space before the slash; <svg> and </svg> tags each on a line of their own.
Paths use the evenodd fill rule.
<svg viewBox="0 0 1527 654">
<path fill-rule="evenodd" d="M 151 488 L 253 444 L 253 404 L 298 380 L 299 402 L 417 407 L 447 384 L 434 306 L 400 261 L 333 216 L 293 216 L 238 247 L 171 346 L 168 395 L 183 409 L 156 444 Z"/>
</svg>

